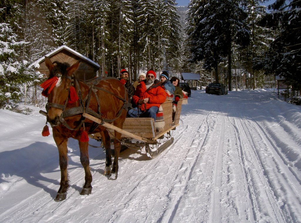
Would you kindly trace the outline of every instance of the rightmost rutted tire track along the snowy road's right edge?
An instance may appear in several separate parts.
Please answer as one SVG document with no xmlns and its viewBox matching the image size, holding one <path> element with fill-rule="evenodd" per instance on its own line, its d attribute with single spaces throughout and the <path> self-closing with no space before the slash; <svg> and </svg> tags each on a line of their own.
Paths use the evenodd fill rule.
<svg viewBox="0 0 301 223">
<path fill-rule="evenodd" d="M 267 130 L 255 120 L 253 120 L 253 123 L 253 128 L 262 139 L 263 152 L 259 151 L 258 155 L 269 185 L 278 202 L 282 203 L 281 210 L 283 215 L 287 219 L 291 219 L 291 221 L 297 221 L 297 219 L 301 218 L 300 179 L 293 168 L 288 165 L 286 158 L 281 153 L 281 148 L 278 148 L 275 141 L 267 134 Z M 274 150 L 267 150 L 266 148 L 273 148 Z M 281 188 L 280 191 L 283 191 L 283 193 L 279 194 L 279 188 Z M 285 198 L 281 198 L 283 196 Z"/>
</svg>

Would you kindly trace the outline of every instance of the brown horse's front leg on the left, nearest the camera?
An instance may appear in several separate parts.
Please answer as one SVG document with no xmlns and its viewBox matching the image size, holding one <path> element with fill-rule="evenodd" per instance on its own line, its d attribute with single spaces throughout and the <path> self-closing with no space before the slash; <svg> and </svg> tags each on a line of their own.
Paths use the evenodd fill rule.
<svg viewBox="0 0 301 223">
<path fill-rule="evenodd" d="M 62 201 L 66 199 L 67 190 L 69 187 L 69 179 L 67 173 L 68 157 L 67 157 L 67 142 L 68 138 L 58 137 L 56 131 L 53 131 L 53 138 L 58 148 L 59 163 L 61 169 L 60 189 L 57 191 L 57 196 L 54 201 Z"/>
</svg>

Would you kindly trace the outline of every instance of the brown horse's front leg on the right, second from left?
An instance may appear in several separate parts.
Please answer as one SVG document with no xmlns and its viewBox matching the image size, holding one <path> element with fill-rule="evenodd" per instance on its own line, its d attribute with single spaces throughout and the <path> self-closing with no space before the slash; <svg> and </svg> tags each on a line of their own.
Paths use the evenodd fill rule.
<svg viewBox="0 0 301 223">
<path fill-rule="evenodd" d="M 79 150 L 80 150 L 80 162 L 85 170 L 85 184 L 82 188 L 81 195 L 88 195 L 92 192 L 92 174 L 90 171 L 90 160 L 88 154 L 88 142 L 79 141 Z"/>
</svg>

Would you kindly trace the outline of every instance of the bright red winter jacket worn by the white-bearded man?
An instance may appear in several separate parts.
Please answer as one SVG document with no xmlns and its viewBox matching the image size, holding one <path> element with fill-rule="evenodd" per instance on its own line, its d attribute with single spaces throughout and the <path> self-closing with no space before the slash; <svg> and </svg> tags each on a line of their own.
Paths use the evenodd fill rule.
<svg viewBox="0 0 301 223">
<path fill-rule="evenodd" d="M 157 106 L 160 107 L 160 104 L 165 102 L 166 100 L 166 93 L 164 89 L 161 87 L 160 81 L 156 81 L 155 83 L 146 89 L 145 81 L 140 81 L 140 84 L 137 86 L 136 91 L 134 93 L 132 102 L 139 105 L 138 101 L 140 99 L 149 98 L 148 102 L 145 104 L 141 104 L 141 111 L 147 110 L 150 107 Z"/>
</svg>

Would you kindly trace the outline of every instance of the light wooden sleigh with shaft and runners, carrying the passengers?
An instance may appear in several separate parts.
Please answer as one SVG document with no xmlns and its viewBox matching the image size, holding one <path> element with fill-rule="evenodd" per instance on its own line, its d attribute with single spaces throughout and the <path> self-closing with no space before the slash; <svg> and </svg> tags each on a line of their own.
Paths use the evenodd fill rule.
<svg viewBox="0 0 301 223">
<path fill-rule="evenodd" d="M 172 130 L 179 125 L 182 109 L 182 99 L 178 101 L 175 112 L 172 111 L 172 101 L 167 100 L 161 104 L 163 108 L 164 127 L 156 130 L 153 118 L 126 118 L 123 129 L 117 128 L 109 123 L 104 123 L 101 119 L 84 113 L 83 116 L 92 121 L 102 124 L 109 130 L 111 139 L 114 139 L 114 130 L 122 133 L 122 145 L 141 149 L 145 146 L 146 154 L 149 158 L 155 158 L 160 152 L 173 143 Z M 90 138 L 101 140 L 99 133 L 89 135 Z M 164 139 L 167 139 L 164 141 Z M 164 141 L 161 143 L 161 140 Z"/>
</svg>

